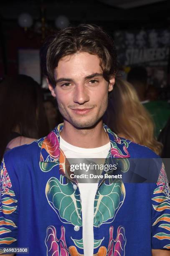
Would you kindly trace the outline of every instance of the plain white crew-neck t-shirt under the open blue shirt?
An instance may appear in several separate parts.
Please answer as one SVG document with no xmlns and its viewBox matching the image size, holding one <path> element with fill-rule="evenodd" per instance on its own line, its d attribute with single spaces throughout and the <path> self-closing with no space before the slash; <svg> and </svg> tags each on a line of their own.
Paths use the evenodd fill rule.
<svg viewBox="0 0 170 256">
<path fill-rule="evenodd" d="M 67 143 L 60 136 L 60 148 L 64 152 L 66 158 L 105 159 L 109 153 L 110 142 L 99 148 L 79 148 Z M 94 198 L 96 195 L 97 187 L 98 183 L 79 183 L 82 207 L 84 256 L 93 256 Z"/>
</svg>

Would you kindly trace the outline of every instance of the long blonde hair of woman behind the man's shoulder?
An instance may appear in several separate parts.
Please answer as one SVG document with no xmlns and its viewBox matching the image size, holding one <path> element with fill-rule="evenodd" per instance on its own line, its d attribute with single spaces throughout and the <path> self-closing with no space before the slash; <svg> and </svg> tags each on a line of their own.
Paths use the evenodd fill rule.
<svg viewBox="0 0 170 256">
<path fill-rule="evenodd" d="M 153 121 L 128 82 L 116 79 L 114 89 L 109 94 L 104 123 L 119 136 L 161 154 L 162 144 L 154 138 Z"/>
</svg>

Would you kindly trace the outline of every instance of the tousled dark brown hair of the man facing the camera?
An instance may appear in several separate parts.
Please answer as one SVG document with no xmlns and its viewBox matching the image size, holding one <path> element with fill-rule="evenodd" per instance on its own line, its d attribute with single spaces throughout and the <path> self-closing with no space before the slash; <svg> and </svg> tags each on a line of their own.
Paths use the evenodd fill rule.
<svg viewBox="0 0 170 256">
<path fill-rule="evenodd" d="M 41 49 L 41 67 L 53 87 L 56 86 L 54 69 L 58 66 L 58 61 L 76 52 L 97 55 L 107 81 L 117 74 L 117 54 L 112 39 L 96 25 L 81 24 L 50 36 Z"/>
</svg>

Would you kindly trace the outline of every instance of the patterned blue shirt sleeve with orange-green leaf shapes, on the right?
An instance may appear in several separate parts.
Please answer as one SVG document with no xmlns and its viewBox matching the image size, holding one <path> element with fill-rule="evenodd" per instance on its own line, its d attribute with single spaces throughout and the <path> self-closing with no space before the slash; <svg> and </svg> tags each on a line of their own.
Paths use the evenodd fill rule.
<svg viewBox="0 0 170 256">
<path fill-rule="evenodd" d="M 152 194 L 152 249 L 170 249 L 170 187 L 164 164 Z"/>
</svg>

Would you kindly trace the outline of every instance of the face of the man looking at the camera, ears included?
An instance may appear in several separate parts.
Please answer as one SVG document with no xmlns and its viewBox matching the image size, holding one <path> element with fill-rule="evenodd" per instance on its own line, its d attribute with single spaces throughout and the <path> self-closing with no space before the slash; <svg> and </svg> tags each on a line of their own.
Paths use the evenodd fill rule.
<svg viewBox="0 0 170 256">
<path fill-rule="evenodd" d="M 114 78 L 103 77 L 100 59 L 86 52 L 64 57 L 54 71 L 56 87 L 49 89 L 58 102 L 64 121 L 76 128 L 95 125 L 107 109 L 108 91 Z"/>
</svg>

